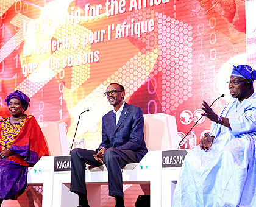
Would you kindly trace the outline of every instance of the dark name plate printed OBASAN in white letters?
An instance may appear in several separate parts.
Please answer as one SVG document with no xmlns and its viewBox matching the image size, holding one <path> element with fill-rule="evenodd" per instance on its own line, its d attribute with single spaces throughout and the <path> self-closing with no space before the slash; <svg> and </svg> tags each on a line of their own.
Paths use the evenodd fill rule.
<svg viewBox="0 0 256 207">
<path fill-rule="evenodd" d="M 162 151 L 162 167 L 181 167 L 187 150 Z"/>
</svg>

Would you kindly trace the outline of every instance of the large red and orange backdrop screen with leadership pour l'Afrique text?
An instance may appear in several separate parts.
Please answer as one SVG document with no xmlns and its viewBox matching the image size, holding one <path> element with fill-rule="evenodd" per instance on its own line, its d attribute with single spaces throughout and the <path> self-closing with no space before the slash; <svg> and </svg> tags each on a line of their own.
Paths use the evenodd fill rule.
<svg viewBox="0 0 256 207">
<path fill-rule="evenodd" d="M 96 149 L 104 92 L 121 83 L 144 114 L 176 117 L 184 136 L 202 100 L 218 112 L 229 101 L 232 65 L 246 62 L 245 2 L 224 0 L 40 0 L 0 2 L 0 116 L 19 89 L 38 121 L 67 126 L 68 143 Z M 201 119 L 197 142 L 210 128 Z M 185 143 L 183 146 L 185 147 Z"/>
</svg>

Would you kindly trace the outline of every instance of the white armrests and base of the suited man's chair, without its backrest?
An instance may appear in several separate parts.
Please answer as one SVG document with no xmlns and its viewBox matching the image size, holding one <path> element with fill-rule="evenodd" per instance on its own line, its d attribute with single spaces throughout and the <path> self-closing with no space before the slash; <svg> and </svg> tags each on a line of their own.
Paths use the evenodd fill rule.
<svg viewBox="0 0 256 207">
<path fill-rule="evenodd" d="M 161 205 L 161 151 L 148 152 L 133 170 L 123 170 L 123 184 L 150 184 L 151 205 Z M 90 171 L 85 175 L 88 202 L 91 207 L 99 207 L 101 202 L 101 184 L 108 184 L 108 172 Z M 53 174 L 54 207 L 68 207 L 69 201 L 78 204 L 78 197 L 66 191 L 70 184 L 70 171 Z M 68 200 L 68 201 L 66 201 Z"/>
</svg>

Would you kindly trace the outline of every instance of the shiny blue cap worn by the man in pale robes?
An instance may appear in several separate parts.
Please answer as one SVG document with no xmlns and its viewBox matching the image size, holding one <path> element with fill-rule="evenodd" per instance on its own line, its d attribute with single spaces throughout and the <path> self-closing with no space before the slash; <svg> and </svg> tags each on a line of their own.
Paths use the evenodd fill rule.
<svg viewBox="0 0 256 207">
<path fill-rule="evenodd" d="M 231 76 L 242 77 L 243 79 L 254 81 L 256 79 L 256 71 L 249 65 L 233 65 Z"/>
</svg>

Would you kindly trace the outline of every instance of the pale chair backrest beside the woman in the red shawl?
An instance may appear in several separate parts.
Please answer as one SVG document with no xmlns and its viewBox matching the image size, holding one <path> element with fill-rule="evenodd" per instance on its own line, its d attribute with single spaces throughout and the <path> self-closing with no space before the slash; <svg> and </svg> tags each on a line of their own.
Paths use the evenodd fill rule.
<svg viewBox="0 0 256 207">
<path fill-rule="evenodd" d="M 57 122 L 38 122 L 43 132 L 50 155 L 68 155 L 66 125 Z"/>
</svg>

